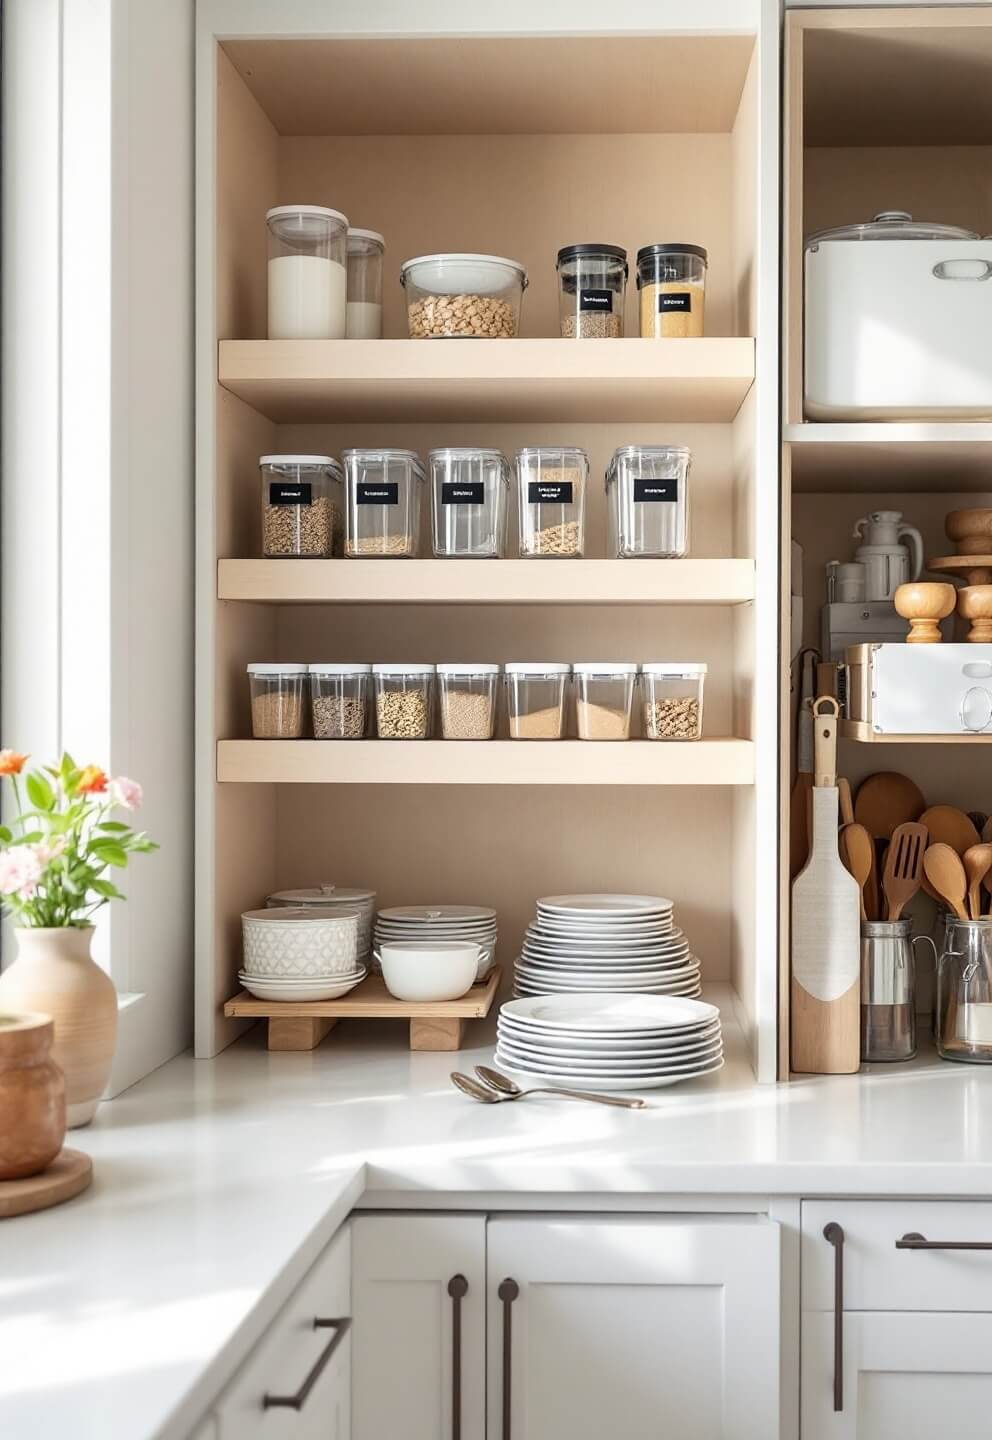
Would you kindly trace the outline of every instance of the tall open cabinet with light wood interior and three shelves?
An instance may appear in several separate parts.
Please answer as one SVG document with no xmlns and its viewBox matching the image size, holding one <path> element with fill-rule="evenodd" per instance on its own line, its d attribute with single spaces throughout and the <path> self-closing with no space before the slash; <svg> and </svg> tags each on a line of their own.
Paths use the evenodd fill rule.
<svg viewBox="0 0 992 1440">
<path fill-rule="evenodd" d="M 203 19 L 200 1054 L 243 1030 L 222 1012 L 239 917 L 275 888 L 333 880 L 374 888 L 380 907 L 492 904 L 507 984 L 538 896 L 619 890 L 675 900 L 704 985 L 731 986 L 756 1071 L 775 1077 L 775 876 L 757 855 L 775 842 L 777 770 L 777 23 L 770 4 L 750 10 L 736 35 L 645 36 L 633 22 L 625 35 L 621 14 L 610 35 L 430 42 L 268 36 L 251 16 L 229 39 Z M 384 233 L 384 340 L 297 356 L 265 341 L 265 212 L 299 200 Z M 639 245 L 671 238 L 710 252 L 713 338 L 557 338 L 562 245 L 625 245 L 633 271 Z M 441 249 L 527 266 L 520 340 L 403 338 L 399 265 Z M 633 275 L 626 321 L 635 336 Z M 482 347 L 466 359 L 481 367 L 469 400 L 454 376 L 418 380 L 456 366 L 459 346 Z M 526 399 L 513 377 L 501 386 L 514 366 L 536 377 Z M 592 557 L 606 553 L 613 449 L 688 445 L 691 559 L 258 559 L 261 454 L 490 445 L 513 458 L 554 442 L 590 456 Z M 249 739 L 249 661 L 602 657 L 707 661 L 705 739 L 510 742 L 505 717 L 492 743 Z"/>
</svg>

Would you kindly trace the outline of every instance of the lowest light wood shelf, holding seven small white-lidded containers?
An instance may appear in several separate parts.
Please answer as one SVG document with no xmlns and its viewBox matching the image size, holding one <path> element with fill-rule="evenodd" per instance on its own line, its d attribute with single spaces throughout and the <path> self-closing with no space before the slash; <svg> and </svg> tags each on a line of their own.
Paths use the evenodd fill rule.
<svg viewBox="0 0 992 1440">
<path fill-rule="evenodd" d="M 752 785 L 750 740 L 220 740 L 217 780 L 275 785 Z"/>
</svg>

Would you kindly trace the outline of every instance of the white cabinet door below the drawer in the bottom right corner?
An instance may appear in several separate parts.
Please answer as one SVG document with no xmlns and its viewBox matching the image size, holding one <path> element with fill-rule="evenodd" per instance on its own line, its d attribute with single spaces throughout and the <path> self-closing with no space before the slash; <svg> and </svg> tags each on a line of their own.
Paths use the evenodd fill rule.
<svg viewBox="0 0 992 1440">
<path fill-rule="evenodd" d="M 844 1408 L 834 1410 L 834 1316 L 802 1316 L 802 1440 L 988 1434 L 992 1315 L 847 1312 Z"/>
</svg>

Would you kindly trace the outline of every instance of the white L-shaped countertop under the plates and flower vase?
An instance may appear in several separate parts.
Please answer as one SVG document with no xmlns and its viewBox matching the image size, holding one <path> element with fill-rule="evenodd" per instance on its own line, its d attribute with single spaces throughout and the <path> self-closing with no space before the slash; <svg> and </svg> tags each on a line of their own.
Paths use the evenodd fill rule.
<svg viewBox="0 0 992 1440">
<path fill-rule="evenodd" d="M 982 1067 L 756 1087 L 731 1031 L 718 1076 L 625 1112 L 482 1106 L 449 1086 L 488 1060 L 491 1045 L 410 1054 L 405 1027 L 353 1022 L 308 1054 L 252 1032 L 104 1104 L 71 1136 L 94 1156 L 91 1191 L 0 1223 L 4 1440 L 184 1440 L 363 1195 L 504 1210 L 992 1197 Z"/>
</svg>

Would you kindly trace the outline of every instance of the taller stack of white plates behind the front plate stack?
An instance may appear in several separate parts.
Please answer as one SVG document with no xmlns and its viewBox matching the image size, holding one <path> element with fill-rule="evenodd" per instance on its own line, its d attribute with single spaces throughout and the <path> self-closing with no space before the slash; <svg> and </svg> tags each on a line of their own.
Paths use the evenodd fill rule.
<svg viewBox="0 0 992 1440">
<path fill-rule="evenodd" d="M 546 896 L 517 960 L 515 995 L 700 994 L 700 962 L 664 896 Z"/>
</svg>

